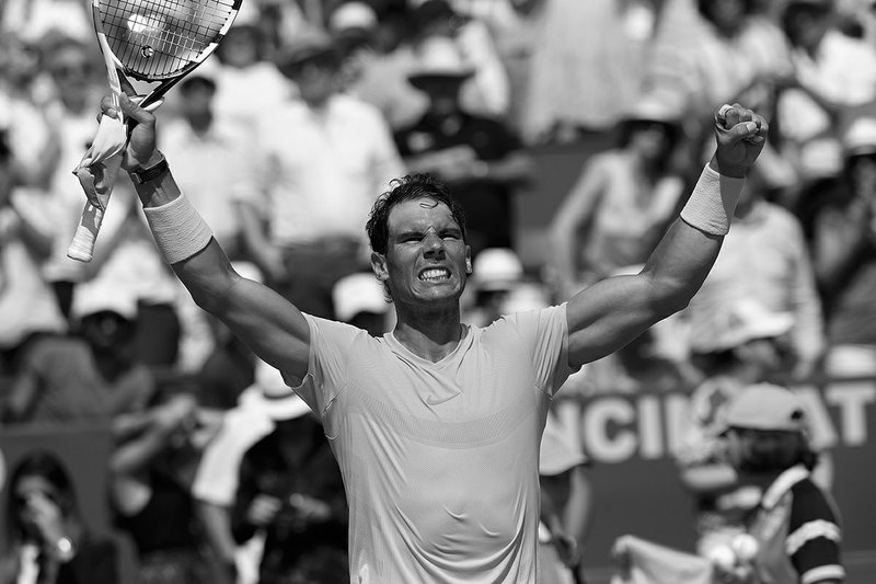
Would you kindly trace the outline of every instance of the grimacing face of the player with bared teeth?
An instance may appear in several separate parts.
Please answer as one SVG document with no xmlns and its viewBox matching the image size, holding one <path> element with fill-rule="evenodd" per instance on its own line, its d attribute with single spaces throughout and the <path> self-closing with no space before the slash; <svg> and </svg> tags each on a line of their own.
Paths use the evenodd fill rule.
<svg viewBox="0 0 876 584">
<path fill-rule="evenodd" d="M 471 273 L 471 249 L 450 208 L 430 198 L 406 201 L 390 211 L 387 254 L 372 254 L 378 278 L 396 306 L 458 306 Z"/>
</svg>

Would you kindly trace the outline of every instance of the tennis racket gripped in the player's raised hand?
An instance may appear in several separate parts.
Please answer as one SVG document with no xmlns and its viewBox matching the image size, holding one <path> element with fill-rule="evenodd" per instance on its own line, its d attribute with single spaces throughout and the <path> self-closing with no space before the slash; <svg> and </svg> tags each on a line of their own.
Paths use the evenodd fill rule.
<svg viewBox="0 0 876 584">
<path fill-rule="evenodd" d="M 118 105 L 122 80 L 146 83 L 132 96 L 157 107 L 171 88 L 209 57 L 238 15 L 242 0 L 92 0 L 94 32 L 106 62 L 106 77 Z M 131 85 L 132 87 L 132 85 Z M 128 122 L 128 134 L 131 123 Z M 108 199 L 107 199 L 108 201 Z M 67 255 L 90 262 L 106 203 L 85 204 Z"/>
</svg>

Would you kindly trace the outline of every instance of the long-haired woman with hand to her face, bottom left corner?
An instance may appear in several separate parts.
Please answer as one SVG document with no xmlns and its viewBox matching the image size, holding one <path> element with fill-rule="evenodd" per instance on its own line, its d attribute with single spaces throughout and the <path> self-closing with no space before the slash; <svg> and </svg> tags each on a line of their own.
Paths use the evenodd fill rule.
<svg viewBox="0 0 876 584">
<path fill-rule="evenodd" d="M 0 560 L 2 584 L 117 584 L 115 542 L 93 533 L 73 480 L 54 454 L 35 450 L 12 469 Z"/>
</svg>

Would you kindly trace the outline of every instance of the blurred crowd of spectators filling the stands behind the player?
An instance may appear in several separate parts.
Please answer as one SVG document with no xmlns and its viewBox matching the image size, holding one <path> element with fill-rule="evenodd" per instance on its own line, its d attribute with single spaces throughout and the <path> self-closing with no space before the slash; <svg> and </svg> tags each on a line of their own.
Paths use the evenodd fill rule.
<svg viewBox="0 0 876 584">
<path fill-rule="evenodd" d="M 210 554 L 251 582 L 343 582 L 344 491 L 321 430 L 273 402 L 277 379 L 193 302 L 126 181 L 94 260 L 66 256 L 84 204 L 71 171 L 107 91 L 90 19 L 81 0 L 0 0 L 0 419 L 112 426 L 110 504 L 142 582 L 211 581 Z M 487 324 L 641 270 L 711 156 L 715 108 L 736 101 L 771 138 L 702 290 L 574 376 L 550 422 L 575 443 L 583 397 L 689 391 L 689 469 L 711 463 L 702 436 L 740 388 L 876 375 L 871 1 L 244 0 L 157 115 L 176 181 L 241 274 L 379 335 L 393 314 L 364 225 L 394 178 L 431 173 L 459 197 L 464 320 Z M 523 265 L 515 197 L 539 192 L 532 152 L 595 138 L 611 146 L 558 194 L 543 262 Z M 218 469 L 216 444 L 237 453 Z M 586 458 L 567 446 L 544 476 L 549 491 L 557 476 L 577 485 L 553 497 L 574 511 L 545 511 L 544 527 L 574 565 Z M 62 474 L 35 457 L 31 474 Z M 36 530 L 57 536 L 65 505 L 37 503 L 50 517 Z M 35 528 L 15 529 L 8 552 Z M 77 545 L 106 556 L 82 530 Z"/>
</svg>

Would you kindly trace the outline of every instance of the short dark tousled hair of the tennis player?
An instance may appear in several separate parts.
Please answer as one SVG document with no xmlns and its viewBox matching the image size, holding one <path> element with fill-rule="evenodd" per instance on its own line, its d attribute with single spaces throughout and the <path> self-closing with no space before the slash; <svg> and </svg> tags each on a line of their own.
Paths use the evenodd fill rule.
<svg viewBox="0 0 876 584">
<path fill-rule="evenodd" d="M 466 241 L 465 211 L 450 194 L 447 185 L 431 174 L 408 174 L 392 181 L 390 190 L 380 195 L 371 207 L 371 214 L 365 225 L 371 251 L 381 255 L 387 253 L 390 239 L 390 211 L 401 203 L 418 198 L 430 198 L 436 205 L 447 205 L 453 220 L 462 230 L 462 240 Z"/>
</svg>

